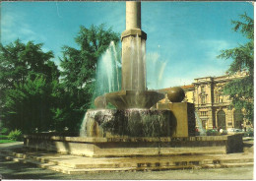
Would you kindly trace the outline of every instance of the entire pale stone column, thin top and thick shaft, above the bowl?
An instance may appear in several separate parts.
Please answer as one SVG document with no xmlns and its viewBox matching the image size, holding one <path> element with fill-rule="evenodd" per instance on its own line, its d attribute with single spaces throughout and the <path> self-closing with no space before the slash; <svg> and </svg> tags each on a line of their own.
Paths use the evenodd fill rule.
<svg viewBox="0 0 256 181">
<path fill-rule="evenodd" d="M 146 39 L 141 30 L 141 2 L 126 2 L 126 30 L 122 32 L 122 90 L 146 91 Z"/>
</svg>

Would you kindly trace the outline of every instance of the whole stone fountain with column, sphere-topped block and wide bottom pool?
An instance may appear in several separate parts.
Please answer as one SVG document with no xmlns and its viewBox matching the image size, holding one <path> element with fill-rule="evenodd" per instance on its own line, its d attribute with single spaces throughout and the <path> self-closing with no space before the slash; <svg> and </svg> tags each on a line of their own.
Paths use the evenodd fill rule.
<svg viewBox="0 0 256 181">
<path fill-rule="evenodd" d="M 126 30 L 121 35 L 121 91 L 96 97 L 96 109 L 87 111 L 80 137 L 27 135 L 25 147 L 94 159 L 136 157 L 134 169 L 139 169 L 141 165 L 143 169 L 171 168 L 173 165 L 166 161 L 160 163 L 162 156 L 169 156 L 169 160 L 173 155 L 242 151 L 241 135 L 195 136 L 194 104 L 182 102 L 182 89 L 172 88 L 167 92 L 170 102 L 165 103 L 159 102 L 164 98 L 163 93 L 148 91 L 146 39 L 146 32 L 141 30 L 141 2 L 126 2 Z M 115 109 L 106 108 L 108 103 Z M 147 160 L 141 159 L 141 156 L 147 157 Z M 120 166 L 117 159 L 111 161 Z M 96 164 L 96 168 L 99 171 L 103 169 L 100 163 Z"/>
</svg>

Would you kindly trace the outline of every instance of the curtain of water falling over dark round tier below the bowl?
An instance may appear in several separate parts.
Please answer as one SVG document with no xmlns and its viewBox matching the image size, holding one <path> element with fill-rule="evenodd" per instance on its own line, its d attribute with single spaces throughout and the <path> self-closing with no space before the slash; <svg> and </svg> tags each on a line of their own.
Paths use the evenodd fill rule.
<svg viewBox="0 0 256 181">
<path fill-rule="evenodd" d="M 173 122 L 166 121 L 170 115 L 169 111 L 139 108 L 91 109 L 81 125 L 80 137 L 98 137 L 107 132 L 118 136 L 166 137 L 175 128 Z"/>
</svg>

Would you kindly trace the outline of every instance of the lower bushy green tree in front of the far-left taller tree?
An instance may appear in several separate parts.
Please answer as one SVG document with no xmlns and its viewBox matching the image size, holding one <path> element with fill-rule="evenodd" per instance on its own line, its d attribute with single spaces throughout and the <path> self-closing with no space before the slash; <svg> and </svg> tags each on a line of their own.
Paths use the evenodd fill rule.
<svg viewBox="0 0 256 181">
<path fill-rule="evenodd" d="M 39 132 L 50 129 L 52 112 L 51 86 L 45 79 L 37 76 L 24 84 L 15 84 L 15 89 L 6 92 L 3 109 L 6 126 L 11 130 L 21 129 L 23 133 Z"/>
</svg>

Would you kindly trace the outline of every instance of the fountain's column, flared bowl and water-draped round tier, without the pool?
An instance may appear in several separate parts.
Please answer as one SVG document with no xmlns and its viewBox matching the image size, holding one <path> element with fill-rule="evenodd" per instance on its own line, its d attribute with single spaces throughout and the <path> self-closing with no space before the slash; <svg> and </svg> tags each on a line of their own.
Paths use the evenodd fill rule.
<svg viewBox="0 0 256 181">
<path fill-rule="evenodd" d="M 171 112 L 150 110 L 164 98 L 164 94 L 147 90 L 146 39 L 146 32 L 141 30 L 140 2 L 127 2 L 126 30 L 121 35 L 121 91 L 104 93 L 96 98 L 98 109 L 87 111 L 81 136 L 172 136 L 176 120 L 171 119 Z M 116 109 L 106 109 L 108 102 Z"/>
</svg>

